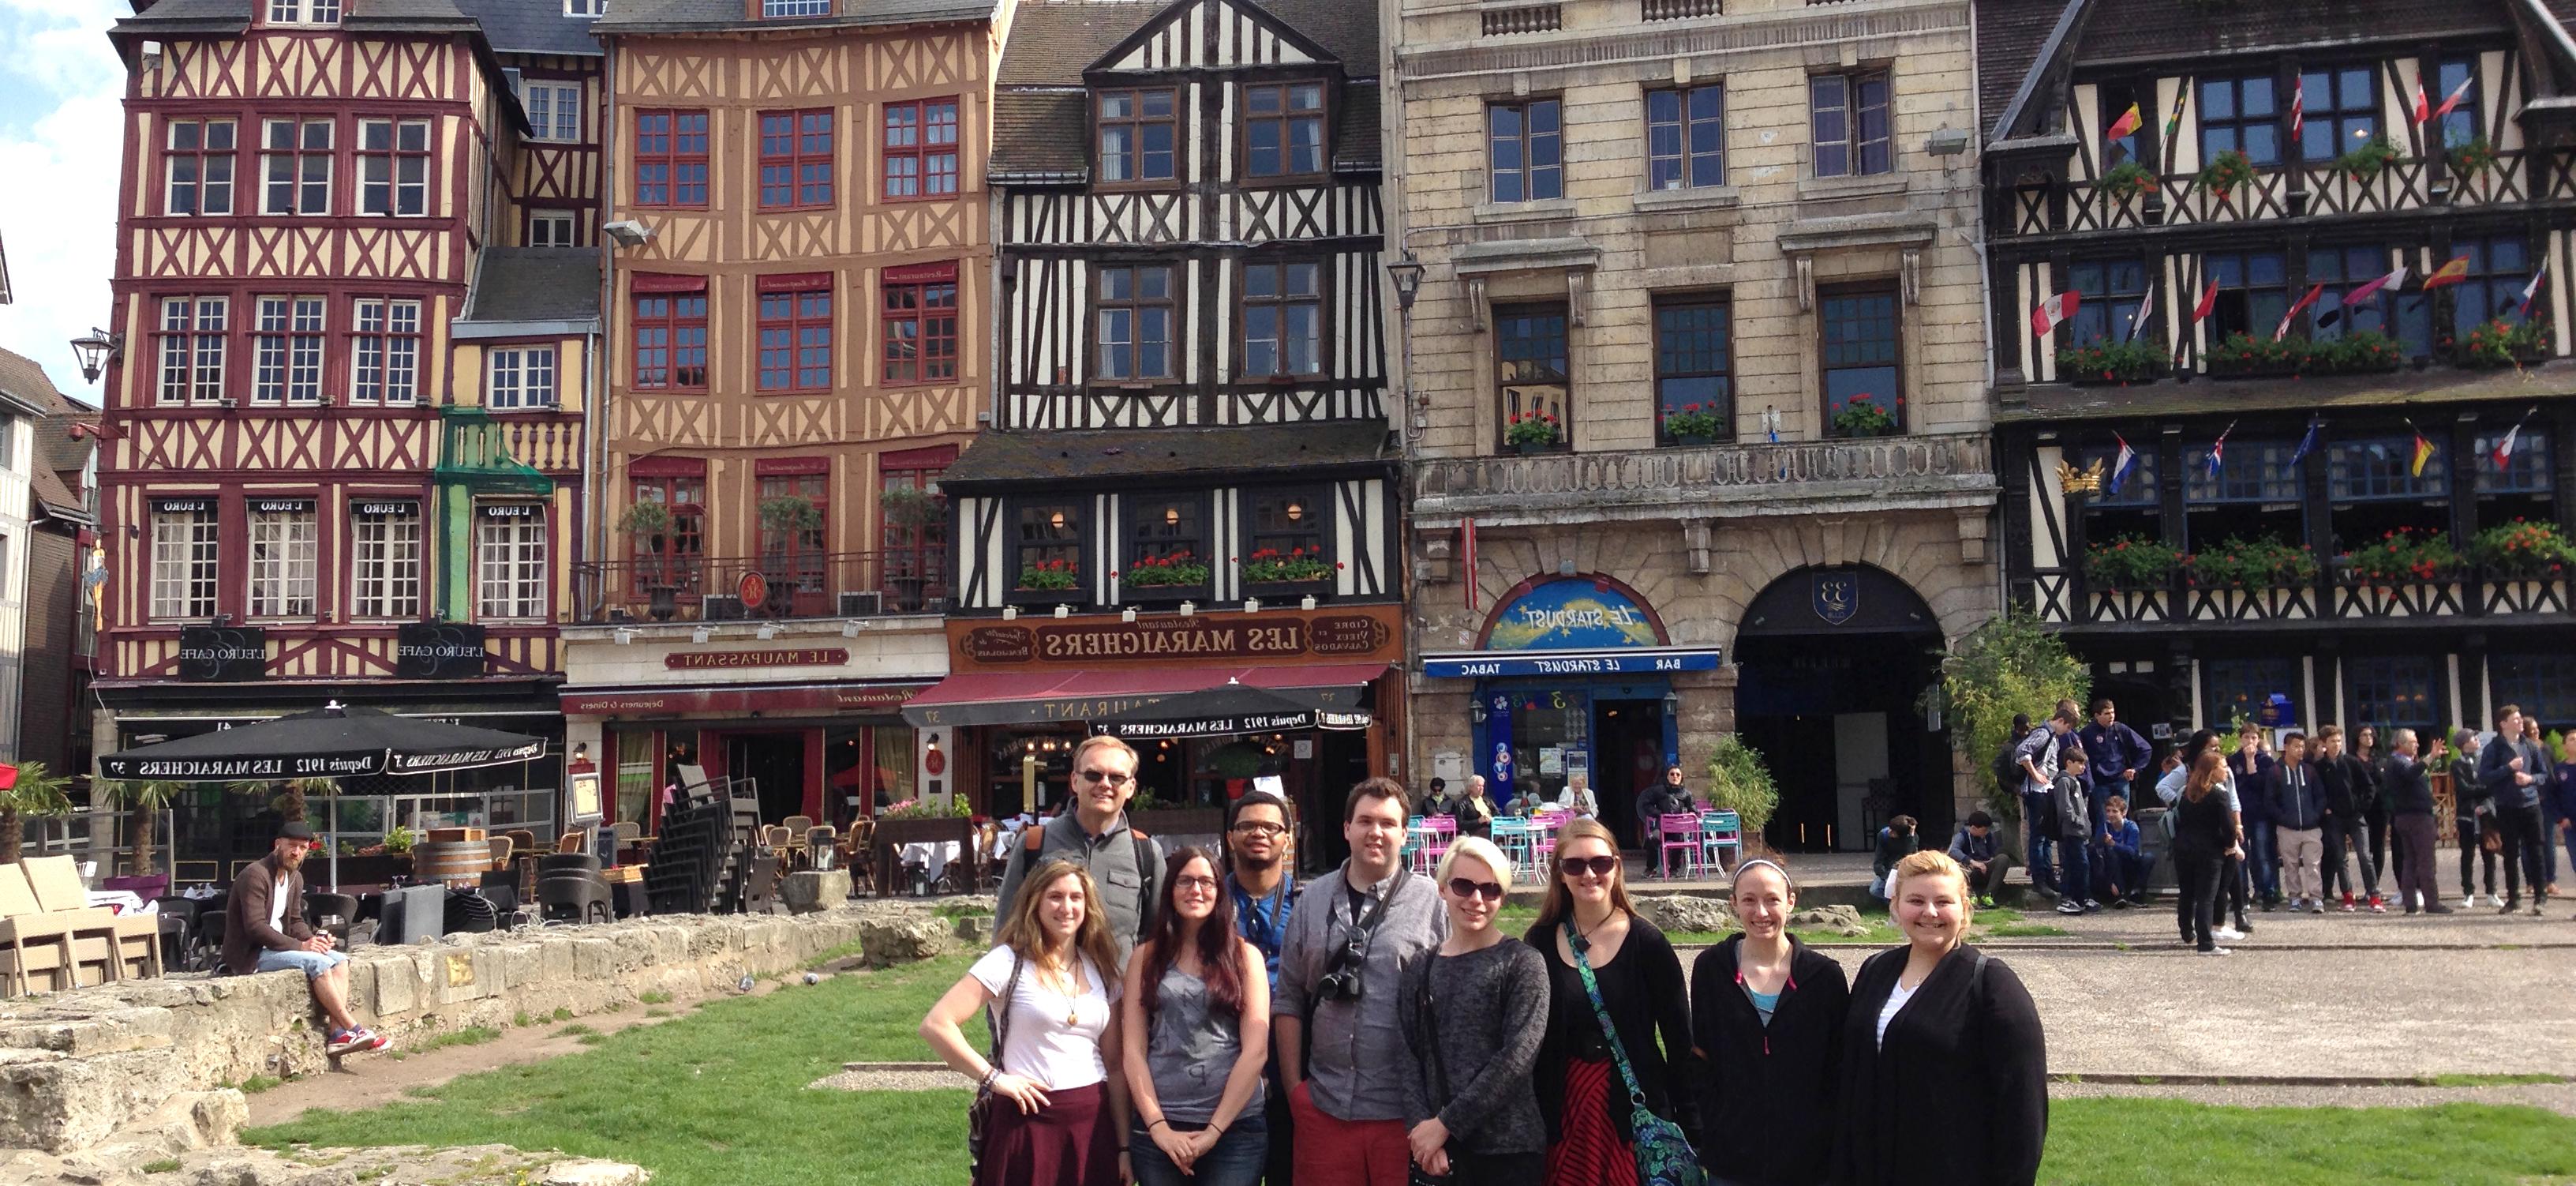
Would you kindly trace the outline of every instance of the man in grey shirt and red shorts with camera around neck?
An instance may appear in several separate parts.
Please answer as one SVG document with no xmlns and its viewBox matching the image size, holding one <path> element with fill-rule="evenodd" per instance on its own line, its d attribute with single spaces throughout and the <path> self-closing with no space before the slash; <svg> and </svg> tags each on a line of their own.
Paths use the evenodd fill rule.
<svg viewBox="0 0 2576 1186">
<path fill-rule="evenodd" d="M 1288 918 L 1270 1049 L 1296 1119 L 1296 1186 L 1401 1183 L 1412 1163 L 1417 1070 L 1396 998 L 1404 962 L 1448 938 L 1448 913 L 1432 882 L 1404 869 L 1406 807 L 1394 779 L 1352 786 L 1350 861 L 1309 884 L 1314 897 Z"/>
</svg>

